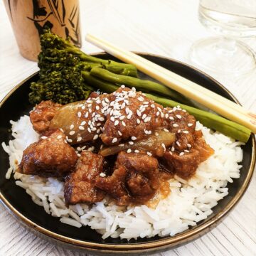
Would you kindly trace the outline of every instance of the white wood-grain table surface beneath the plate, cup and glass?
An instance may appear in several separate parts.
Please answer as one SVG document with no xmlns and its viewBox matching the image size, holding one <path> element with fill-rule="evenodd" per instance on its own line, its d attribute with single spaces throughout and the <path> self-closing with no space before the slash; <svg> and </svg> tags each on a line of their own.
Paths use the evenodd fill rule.
<svg viewBox="0 0 256 256">
<path fill-rule="evenodd" d="M 191 43 L 210 36 L 197 19 L 195 0 L 82 0 L 82 38 L 94 33 L 129 50 L 156 53 L 188 62 Z M 86 53 L 99 51 L 82 41 Z M 256 50 L 254 39 L 247 39 Z M 18 53 L 9 19 L 0 1 L 0 100 L 38 70 Z M 217 78 L 250 110 L 256 111 L 256 72 L 243 78 Z M 56 220 L 58 221 L 58 220 Z M 36 237 L 0 204 L 0 255 L 82 255 Z M 256 255 L 256 174 L 232 213 L 202 238 L 157 255 Z"/>
</svg>

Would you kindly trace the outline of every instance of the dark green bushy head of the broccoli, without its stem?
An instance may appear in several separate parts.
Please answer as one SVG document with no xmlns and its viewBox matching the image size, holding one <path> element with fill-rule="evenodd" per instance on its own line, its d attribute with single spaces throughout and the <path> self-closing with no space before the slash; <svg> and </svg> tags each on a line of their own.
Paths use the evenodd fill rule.
<svg viewBox="0 0 256 256">
<path fill-rule="evenodd" d="M 42 100 L 53 100 L 67 104 L 85 100 L 92 87 L 85 84 L 81 71 L 85 65 L 77 55 L 68 52 L 74 48 L 69 41 L 46 31 L 41 36 L 41 53 L 38 55 L 39 80 L 31 83 L 29 101 L 32 104 Z"/>
</svg>

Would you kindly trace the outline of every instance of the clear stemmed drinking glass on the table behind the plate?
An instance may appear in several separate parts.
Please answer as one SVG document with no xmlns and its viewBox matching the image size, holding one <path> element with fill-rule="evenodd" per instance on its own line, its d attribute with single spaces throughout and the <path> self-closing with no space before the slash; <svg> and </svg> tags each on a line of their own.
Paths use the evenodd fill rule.
<svg viewBox="0 0 256 256">
<path fill-rule="evenodd" d="M 256 0 L 200 0 L 199 20 L 221 36 L 197 41 L 192 63 L 214 73 L 241 75 L 256 68 L 254 51 L 240 37 L 256 36 Z"/>
</svg>

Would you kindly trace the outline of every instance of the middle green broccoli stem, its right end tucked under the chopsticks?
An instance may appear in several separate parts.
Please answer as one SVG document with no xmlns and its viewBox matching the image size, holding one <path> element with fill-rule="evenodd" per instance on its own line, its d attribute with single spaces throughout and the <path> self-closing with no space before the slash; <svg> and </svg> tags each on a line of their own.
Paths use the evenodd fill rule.
<svg viewBox="0 0 256 256">
<path fill-rule="evenodd" d="M 111 73 L 108 70 L 103 70 L 102 68 L 97 67 L 92 68 L 90 74 L 102 80 L 106 80 L 107 82 L 113 82 L 115 84 L 125 85 L 127 87 L 135 87 L 137 90 L 142 90 L 142 92 L 153 92 L 165 97 L 171 97 L 171 99 L 177 100 L 178 102 L 182 102 L 187 105 L 193 105 L 190 100 L 188 100 L 186 97 L 183 97 L 183 95 L 180 93 L 171 90 L 169 87 L 161 85 L 157 82 L 141 80 L 139 78 L 132 78 L 125 75 L 117 75 Z"/>
</svg>

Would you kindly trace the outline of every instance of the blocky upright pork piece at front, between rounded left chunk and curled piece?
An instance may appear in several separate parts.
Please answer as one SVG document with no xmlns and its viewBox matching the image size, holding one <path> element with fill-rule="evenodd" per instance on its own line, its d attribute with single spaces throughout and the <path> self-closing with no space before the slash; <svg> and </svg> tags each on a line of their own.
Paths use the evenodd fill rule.
<svg viewBox="0 0 256 256">
<path fill-rule="evenodd" d="M 75 170 L 65 181 L 64 197 L 67 205 L 100 202 L 105 193 L 95 187 L 95 177 L 103 171 L 103 157 L 82 151 Z"/>
</svg>

